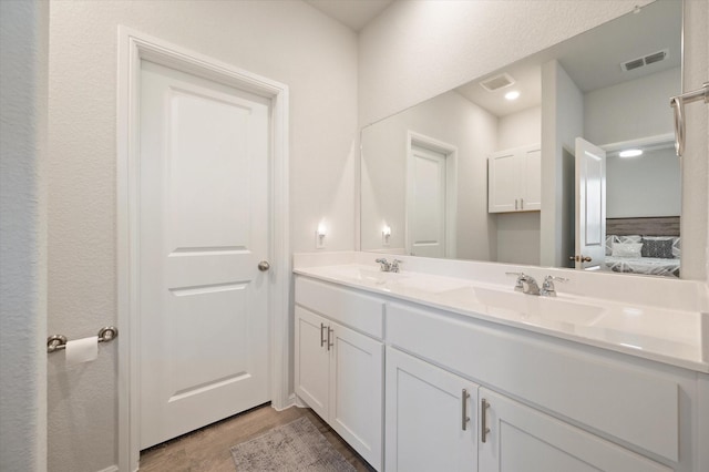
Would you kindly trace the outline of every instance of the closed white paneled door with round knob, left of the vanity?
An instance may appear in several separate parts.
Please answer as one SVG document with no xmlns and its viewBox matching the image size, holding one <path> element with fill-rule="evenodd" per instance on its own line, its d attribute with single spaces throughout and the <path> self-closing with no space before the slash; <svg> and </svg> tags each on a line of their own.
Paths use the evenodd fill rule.
<svg viewBox="0 0 709 472">
<path fill-rule="evenodd" d="M 146 61 L 140 98 L 144 449 L 270 400 L 270 102 Z"/>
</svg>

